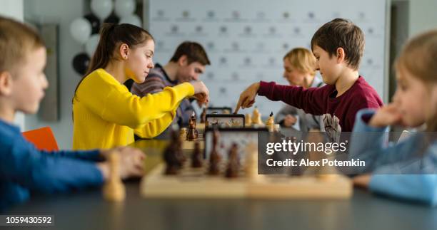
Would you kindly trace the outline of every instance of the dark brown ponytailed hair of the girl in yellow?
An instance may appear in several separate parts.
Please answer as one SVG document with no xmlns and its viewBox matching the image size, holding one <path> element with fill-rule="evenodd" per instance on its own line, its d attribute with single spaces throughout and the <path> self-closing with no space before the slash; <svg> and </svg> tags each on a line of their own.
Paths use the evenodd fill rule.
<svg viewBox="0 0 437 230">
<path fill-rule="evenodd" d="M 129 48 L 145 43 L 146 41 L 154 41 L 154 37 L 144 28 L 134 26 L 131 24 L 115 24 L 104 23 L 100 28 L 100 40 L 94 52 L 88 70 L 84 78 L 79 81 L 74 90 L 74 97 L 82 80 L 86 78 L 91 72 L 99 68 L 105 68 L 109 62 L 114 59 L 114 50 L 121 44 L 126 43 Z"/>
</svg>

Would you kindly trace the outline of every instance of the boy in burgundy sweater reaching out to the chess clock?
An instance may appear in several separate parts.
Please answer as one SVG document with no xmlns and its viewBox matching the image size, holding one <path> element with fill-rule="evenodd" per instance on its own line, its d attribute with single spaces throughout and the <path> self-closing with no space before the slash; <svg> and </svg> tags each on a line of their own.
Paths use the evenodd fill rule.
<svg viewBox="0 0 437 230">
<path fill-rule="evenodd" d="M 364 50 L 364 34 L 358 26 L 346 19 L 333 19 L 314 33 L 311 49 L 325 86 L 305 90 L 274 82 L 253 83 L 241 93 L 236 112 L 251 107 L 256 94 L 282 100 L 306 113 L 322 115 L 328 136 L 338 141 L 341 131 L 352 131 L 358 110 L 383 105 L 376 90 L 358 74 Z"/>
</svg>

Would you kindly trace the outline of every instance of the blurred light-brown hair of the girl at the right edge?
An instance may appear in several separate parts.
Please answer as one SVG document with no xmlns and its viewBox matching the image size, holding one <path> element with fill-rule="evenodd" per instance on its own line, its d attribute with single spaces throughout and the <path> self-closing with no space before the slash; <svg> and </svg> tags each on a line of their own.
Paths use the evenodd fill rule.
<svg viewBox="0 0 437 230">
<path fill-rule="evenodd" d="M 403 47 L 394 65 L 399 71 L 408 71 L 413 77 L 426 83 L 437 83 L 437 30 L 413 37 Z M 426 121 L 428 131 L 437 131 L 437 114 Z"/>
</svg>

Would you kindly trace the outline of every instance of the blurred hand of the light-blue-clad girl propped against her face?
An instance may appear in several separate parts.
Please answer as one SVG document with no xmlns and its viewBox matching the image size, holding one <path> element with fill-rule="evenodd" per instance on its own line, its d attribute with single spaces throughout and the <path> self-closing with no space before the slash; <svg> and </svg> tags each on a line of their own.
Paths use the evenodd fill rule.
<svg viewBox="0 0 437 230">
<path fill-rule="evenodd" d="M 376 113 L 372 116 L 371 120 L 368 122 L 368 125 L 373 127 L 403 125 L 402 115 L 396 105 L 390 103 L 376 110 Z"/>
</svg>

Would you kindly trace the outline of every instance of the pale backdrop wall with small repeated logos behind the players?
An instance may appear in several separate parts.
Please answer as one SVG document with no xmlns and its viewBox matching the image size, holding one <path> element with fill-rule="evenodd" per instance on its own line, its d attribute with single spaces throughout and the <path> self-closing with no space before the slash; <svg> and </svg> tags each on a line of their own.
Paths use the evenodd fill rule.
<svg viewBox="0 0 437 230">
<path fill-rule="evenodd" d="M 350 19 L 365 33 L 359 72 L 382 98 L 386 1 L 149 0 L 155 61 L 167 63 L 183 41 L 201 43 L 211 60 L 201 80 L 214 106 L 234 107 L 239 93 L 258 80 L 286 84 L 283 56 L 297 46 L 311 48 L 317 28 L 337 17 Z M 257 98 L 256 105 L 268 115 L 283 103 Z"/>
</svg>

